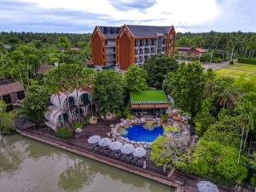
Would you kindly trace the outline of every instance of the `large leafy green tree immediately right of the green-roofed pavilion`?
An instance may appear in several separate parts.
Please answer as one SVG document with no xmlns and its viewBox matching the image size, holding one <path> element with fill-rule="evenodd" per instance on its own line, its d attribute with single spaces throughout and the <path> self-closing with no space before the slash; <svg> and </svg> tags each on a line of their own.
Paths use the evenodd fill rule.
<svg viewBox="0 0 256 192">
<path fill-rule="evenodd" d="M 203 67 L 194 62 L 179 65 L 177 72 L 168 73 L 165 90 L 174 97 L 178 107 L 195 117 L 201 110 L 202 92 L 206 82 Z"/>
</svg>

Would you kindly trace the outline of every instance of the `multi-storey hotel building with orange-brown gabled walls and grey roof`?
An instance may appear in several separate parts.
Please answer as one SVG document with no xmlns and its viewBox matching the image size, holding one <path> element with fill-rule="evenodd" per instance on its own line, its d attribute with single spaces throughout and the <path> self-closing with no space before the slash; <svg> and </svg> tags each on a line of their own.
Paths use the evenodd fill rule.
<svg viewBox="0 0 256 192">
<path fill-rule="evenodd" d="M 91 59 L 96 66 L 143 65 L 152 55 L 173 55 L 173 26 L 96 26 L 91 35 Z"/>
</svg>

